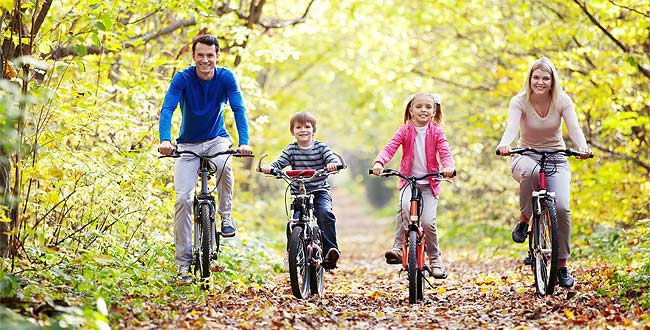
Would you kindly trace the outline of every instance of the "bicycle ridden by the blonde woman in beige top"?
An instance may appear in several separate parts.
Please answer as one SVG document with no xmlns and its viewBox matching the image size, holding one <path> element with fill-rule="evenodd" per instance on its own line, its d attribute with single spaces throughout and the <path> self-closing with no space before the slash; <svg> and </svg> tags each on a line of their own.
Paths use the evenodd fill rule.
<svg viewBox="0 0 650 330">
<path fill-rule="evenodd" d="M 537 161 L 539 167 L 538 189 L 533 189 L 532 193 L 532 226 L 528 239 L 528 258 L 530 266 L 535 276 L 535 290 L 542 295 L 553 294 L 557 281 L 558 254 L 559 254 L 559 235 L 560 229 L 557 220 L 557 211 L 555 208 L 555 192 L 548 191 L 546 185 L 547 176 L 552 175 L 552 170 L 546 169 L 547 160 L 553 155 L 564 156 L 585 156 L 584 153 L 573 149 L 557 150 L 540 150 L 535 148 L 514 148 L 508 155 L 501 155 L 499 150 L 496 151 L 499 156 L 508 156 L 513 154 L 540 155 Z M 593 154 L 588 154 L 588 158 L 593 158 Z"/>
</svg>

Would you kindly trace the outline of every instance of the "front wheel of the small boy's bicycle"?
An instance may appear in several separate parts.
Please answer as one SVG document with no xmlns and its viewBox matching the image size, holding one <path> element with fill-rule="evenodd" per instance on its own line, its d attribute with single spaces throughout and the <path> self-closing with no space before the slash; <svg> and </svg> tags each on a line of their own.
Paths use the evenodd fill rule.
<svg viewBox="0 0 650 330">
<path fill-rule="evenodd" d="M 291 292 L 298 299 L 309 297 L 309 264 L 307 248 L 303 239 L 303 228 L 296 226 L 289 240 L 289 279 Z"/>
</svg>

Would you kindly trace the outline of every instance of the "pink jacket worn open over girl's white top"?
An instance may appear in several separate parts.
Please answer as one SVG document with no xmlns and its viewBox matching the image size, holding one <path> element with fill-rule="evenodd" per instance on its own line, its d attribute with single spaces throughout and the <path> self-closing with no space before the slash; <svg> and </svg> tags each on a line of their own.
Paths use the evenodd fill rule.
<svg viewBox="0 0 650 330">
<path fill-rule="evenodd" d="M 382 166 L 385 166 L 393 156 L 399 146 L 402 146 L 402 161 L 399 165 L 400 172 L 405 175 L 411 175 L 411 167 L 413 166 L 413 159 L 415 158 L 413 147 L 415 145 L 415 136 L 417 131 L 413 123 L 408 123 L 402 125 L 397 129 L 393 137 L 388 141 L 388 144 L 382 149 L 377 158 L 375 158 L 375 163 L 379 163 Z M 454 168 L 454 158 L 451 155 L 451 150 L 449 150 L 449 143 L 447 143 L 447 137 L 445 132 L 440 128 L 440 126 L 430 122 L 427 125 L 427 135 L 425 138 L 425 154 L 427 159 L 427 171 L 436 172 L 440 170 L 440 164 L 438 163 L 438 157 L 436 154 L 440 155 L 440 162 L 444 168 Z M 440 191 L 439 181 L 430 179 L 431 191 L 433 195 L 438 197 L 438 192 Z M 399 183 L 397 184 L 398 189 L 402 189 L 406 185 L 406 181 L 400 178 Z"/>
</svg>

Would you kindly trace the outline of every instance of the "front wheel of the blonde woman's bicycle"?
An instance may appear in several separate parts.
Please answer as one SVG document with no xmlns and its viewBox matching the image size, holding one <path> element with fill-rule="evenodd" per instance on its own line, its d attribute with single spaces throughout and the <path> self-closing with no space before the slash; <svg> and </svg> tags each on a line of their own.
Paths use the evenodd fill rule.
<svg viewBox="0 0 650 330">
<path fill-rule="evenodd" d="M 560 229 L 555 202 L 551 199 L 543 200 L 541 207 L 539 218 L 533 219 L 533 268 L 537 292 L 549 295 L 553 294 L 557 281 Z"/>
</svg>

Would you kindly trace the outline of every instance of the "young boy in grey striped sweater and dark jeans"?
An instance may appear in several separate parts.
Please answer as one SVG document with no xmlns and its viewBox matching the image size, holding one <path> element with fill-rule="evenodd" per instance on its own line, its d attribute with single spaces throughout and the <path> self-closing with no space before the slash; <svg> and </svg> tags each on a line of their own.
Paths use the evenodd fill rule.
<svg viewBox="0 0 650 330">
<path fill-rule="evenodd" d="M 330 172 L 336 171 L 336 165 L 340 165 L 338 158 L 325 143 L 314 140 L 316 118 L 312 114 L 296 113 L 291 117 L 289 127 L 296 142 L 286 146 L 275 162 L 262 167 L 262 172 L 269 174 L 271 169 L 282 170 L 287 166 L 294 170 L 319 170 L 327 167 Z M 333 269 L 336 268 L 341 251 L 336 243 L 336 216 L 332 212 L 332 196 L 326 179 L 327 176 L 316 177 L 306 182 L 305 186 L 307 193 L 314 195 L 314 212 L 323 234 L 323 268 Z"/>
</svg>

